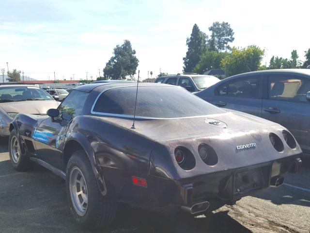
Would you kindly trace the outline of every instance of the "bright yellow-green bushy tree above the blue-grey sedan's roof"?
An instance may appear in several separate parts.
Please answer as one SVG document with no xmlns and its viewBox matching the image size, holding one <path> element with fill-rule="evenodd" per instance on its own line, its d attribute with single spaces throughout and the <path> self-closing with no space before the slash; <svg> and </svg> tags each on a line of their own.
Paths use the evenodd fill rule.
<svg viewBox="0 0 310 233">
<path fill-rule="evenodd" d="M 221 67 L 229 76 L 255 71 L 261 66 L 264 50 L 255 45 L 247 48 L 237 49 L 232 48 L 232 52 L 222 59 Z"/>
</svg>

